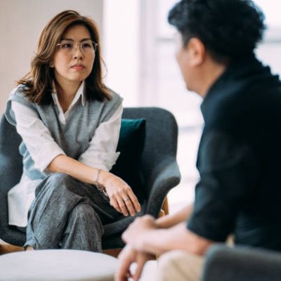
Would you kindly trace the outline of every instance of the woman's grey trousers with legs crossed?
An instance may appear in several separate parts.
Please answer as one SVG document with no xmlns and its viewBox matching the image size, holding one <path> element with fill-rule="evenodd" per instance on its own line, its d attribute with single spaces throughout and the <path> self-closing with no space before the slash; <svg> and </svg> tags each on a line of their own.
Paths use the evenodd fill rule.
<svg viewBox="0 0 281 281">
<path fill-rule="evenodd" d="M 55 173 L 36 189 L 24 247 L 100 252 L 103 224 L 121 218 L 95 185 Z"/>
</svg>

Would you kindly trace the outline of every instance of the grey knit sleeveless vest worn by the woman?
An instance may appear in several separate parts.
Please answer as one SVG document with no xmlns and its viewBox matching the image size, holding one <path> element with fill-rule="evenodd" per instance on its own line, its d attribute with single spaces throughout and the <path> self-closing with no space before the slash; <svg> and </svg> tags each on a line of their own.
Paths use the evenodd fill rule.
<svg viewBox="0 0 281 281">
<path fill-rule="evenodd" d="M 15 100 L 22 105 L 29 107 L 39 115 L 39 118 L 48 128 L 54 141 L 60 146 L 65 154 L 74 159 L 89 148 L 89 142 L 93 137 L 96 128 L 102 122 L 106 122 L 119 105 L 122 98 L 117 93 L 110 92 L 112 99 L 100 102 L 98 100 L 86 100 L 85 105 L 81 105 L 81 97 L 72 108 L 70 115 L 67 117 L 66 123 L 61 124 L 58 118 L 58 108 L 52 102 L 51 105 L 38 105 L 31 103 L 22 93 L 22 87 L 19 86 L 11 93 L 6 107 L 6 119 L 12 125 L 16 125 L 15 115 L 11 109 L 11 101 Z M 32 180 L 43 179 L 46 177 L 44 172 L 34 168 L 34 161 L 27 150 L 25 143 L 20 144 L 20 155 L 23 161 L 23 173 Z"/>
</svg>

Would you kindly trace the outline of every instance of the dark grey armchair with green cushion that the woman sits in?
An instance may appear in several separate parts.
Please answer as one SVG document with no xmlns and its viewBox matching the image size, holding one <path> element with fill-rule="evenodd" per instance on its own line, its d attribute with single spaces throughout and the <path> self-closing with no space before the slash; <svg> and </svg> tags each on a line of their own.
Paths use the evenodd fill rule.
<svg viewBox="0 0 281 281">
<path fill-rule="evenodd" d="M 143 214 L 157 217 L 164 199 L 180 182 L 181 175 L 176 162 L 178 126 L 170 112 L 158 107 L 124 108 L 125 119 L 146 119 L 146 137 L 141 173 L 144 178 L 145 203 Z M 21 138 L 15 127 L 8 124 L 5 117 L 0 123 L 0 238 L 9 244 L 22 246 L 24 233 L 8 225 L 7 193 L 20 181 L 22 158 L 18 153 Z M 121 223 L 105 226 L 103 249 L 116 249 L 124 246 L 122 232 L 133 218 L 126 217 Z"/>
</svg>

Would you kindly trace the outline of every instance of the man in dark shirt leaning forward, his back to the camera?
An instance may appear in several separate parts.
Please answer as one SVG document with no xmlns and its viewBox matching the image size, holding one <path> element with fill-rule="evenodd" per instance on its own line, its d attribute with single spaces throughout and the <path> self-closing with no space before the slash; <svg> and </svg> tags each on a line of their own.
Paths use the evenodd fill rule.
<svg viewBox="0 0 281 281">
<path fill-rule="evenodd" d="M 230 234 L 281 250 L 281 83 L 254 55 L 263 20 L 249 0 L 182 0 L 170 11 L 186 87 L 204 98 L 200 181 L 194 207 L 129 226 L 117 280 L 133 262 L 138 280 L 151 254 L 163 254 L 158 280 L 198 280 L 204 253 Z"/>
</svg>

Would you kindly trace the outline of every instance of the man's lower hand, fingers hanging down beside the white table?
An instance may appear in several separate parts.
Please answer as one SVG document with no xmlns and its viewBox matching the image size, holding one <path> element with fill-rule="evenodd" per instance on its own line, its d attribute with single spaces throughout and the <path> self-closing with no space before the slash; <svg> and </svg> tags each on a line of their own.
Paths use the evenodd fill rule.
<svg viewBox="0 0 281 281">
<path fill-rule="evenodd" d="M 145 265 L 146 261 L 154 259 L 154 256 L 141 251 L 136 251 L 127 245 L 119 254 L 118 259 L 119 266 L 115 275 L 115 280 L 127 281 L 129 277 L 132 277 L 134 281 L 138 281 L 141 277 L 143 266 Z M 130 266 L 134 262 L 136 262 L 136 271 L 134 274 L 131 274 Z"/>
</svg>

